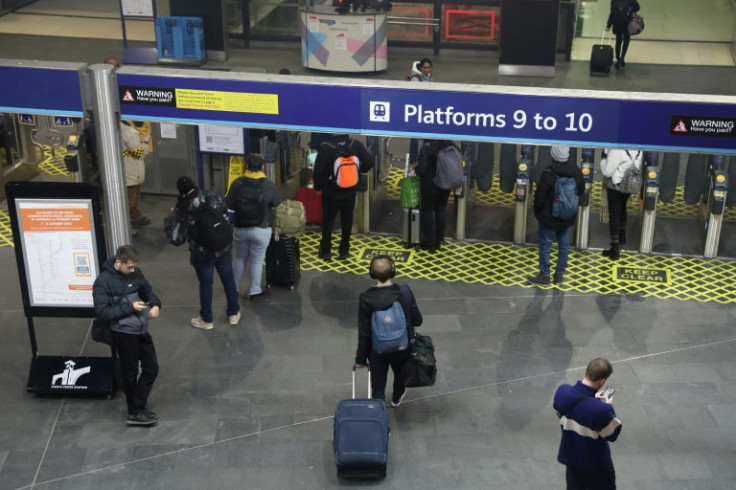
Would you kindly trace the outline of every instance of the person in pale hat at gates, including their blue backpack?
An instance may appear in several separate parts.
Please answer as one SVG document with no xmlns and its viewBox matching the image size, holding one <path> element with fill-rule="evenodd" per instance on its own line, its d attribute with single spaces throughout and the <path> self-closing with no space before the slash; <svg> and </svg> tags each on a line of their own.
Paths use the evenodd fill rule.
<svg viewBox="0 0 736 490">
<path fill-rule="evenodd" d="M 532 284 L 550 284 L 549 257 L 552 242 L 557 240 L 555 284 L 564 281 L 567 256 L 570 251 L 570 227 L 575 224 L 578 197 L 585 191 L 583 173 L 575 162 L 570 162 L 570 148 L 553 146 L 550 149 L 552 165 L 539 179 L 534 192 L 534 216 L 539 222 L 539 274 L 528 278 Z"/>
</svg>

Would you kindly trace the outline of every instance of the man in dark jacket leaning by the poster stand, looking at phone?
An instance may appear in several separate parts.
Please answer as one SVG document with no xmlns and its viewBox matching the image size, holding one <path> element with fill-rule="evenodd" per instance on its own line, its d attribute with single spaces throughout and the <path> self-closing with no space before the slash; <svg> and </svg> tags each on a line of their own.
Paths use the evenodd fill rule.
<svg viewBox="0 0 736 490">
<path fill-rule="evenodd" d="M 158 415 L 148 409 L 148 396 L 158 376 L 158 360 L 148 321 L 158 318 L 161 300 L 153 293 L 138 264 L 138 251 L 123 245 L 102 264 L 92 286 L 97 321 L 112 330 L 120 357 L 120 375 L 128 405 L 128 425 L 153 425 Z M 140 374 L 139 374 L 140 370 Z"/>
</svg>

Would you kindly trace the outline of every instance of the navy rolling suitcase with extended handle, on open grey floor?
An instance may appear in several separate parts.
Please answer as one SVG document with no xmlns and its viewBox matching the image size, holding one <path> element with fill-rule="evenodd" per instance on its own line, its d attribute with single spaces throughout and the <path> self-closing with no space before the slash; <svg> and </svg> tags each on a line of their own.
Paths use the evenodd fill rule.
<svg viewBox="0 0 736 490">
<path fill-rule="evenodd" d="M 368 398 L 342 400 L 335 410 L 334 439 L 337 476 L 377 479 L 386 476 L 388 463 L 388 416 L 383 400 L 370 398 L 371 375 L 368 368 Z"/>
</svg>

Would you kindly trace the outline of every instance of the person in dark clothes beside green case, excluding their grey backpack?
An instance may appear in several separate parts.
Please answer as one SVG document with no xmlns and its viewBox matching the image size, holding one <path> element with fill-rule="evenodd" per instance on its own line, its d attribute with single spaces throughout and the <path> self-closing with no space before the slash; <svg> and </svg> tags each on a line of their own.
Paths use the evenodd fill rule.
<svg viewBox="0 0 736 490">
<path fill-rule="evenodd" d="M 421 182 L 419 210 L 424 230 L 424 248 L 435 253 L 445 241 L 447 226 L 447 201 L 450 191 L 434 184 L 437 173 L 437 152 L 452 146 L 447 140 L 425 140 L 419 150 L 416 172 Z"/>
</svg>

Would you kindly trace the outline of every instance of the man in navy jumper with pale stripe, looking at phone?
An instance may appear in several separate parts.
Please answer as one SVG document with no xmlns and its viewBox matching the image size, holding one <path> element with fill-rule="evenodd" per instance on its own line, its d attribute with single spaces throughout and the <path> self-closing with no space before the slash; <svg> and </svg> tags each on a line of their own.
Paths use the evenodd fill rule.
<svg viewBox="0 0 736 490">
<path fill-rule="evenodd" d="M 613 410 L 613 388 L 603 390 L 613 373 L 607 359 L 588 363 L 582 381 L 557 388 L 553 407 L 560 418 L 562 438 L 557 461 L 567 466 L 567 490 L 615 490 L 611 448 L 621 433 Z"/>
</svg>

